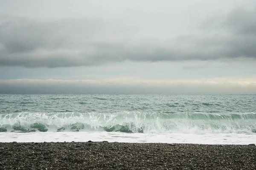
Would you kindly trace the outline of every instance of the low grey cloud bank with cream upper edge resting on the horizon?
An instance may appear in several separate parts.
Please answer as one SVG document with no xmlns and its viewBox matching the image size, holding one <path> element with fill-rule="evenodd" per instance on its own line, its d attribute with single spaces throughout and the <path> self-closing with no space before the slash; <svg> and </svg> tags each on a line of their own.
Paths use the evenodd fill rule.
<svg viewBox="0 0 256 170">
<path fill-rule="evenodd" d="M 0 80 L 0 94 L 256 94 L 256 79 Z"/>
</svg>

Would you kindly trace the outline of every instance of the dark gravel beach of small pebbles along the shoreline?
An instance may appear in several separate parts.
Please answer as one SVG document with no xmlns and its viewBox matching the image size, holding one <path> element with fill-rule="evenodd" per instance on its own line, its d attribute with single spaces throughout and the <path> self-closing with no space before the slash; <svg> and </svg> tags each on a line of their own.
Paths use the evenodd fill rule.
<svg viewBox="0 0 256 170">
<path fill-rule="evenodd" d="M 0 143 L 0 170 L 256 170 L 256 146 L 118 142 Z"/>
</svg>

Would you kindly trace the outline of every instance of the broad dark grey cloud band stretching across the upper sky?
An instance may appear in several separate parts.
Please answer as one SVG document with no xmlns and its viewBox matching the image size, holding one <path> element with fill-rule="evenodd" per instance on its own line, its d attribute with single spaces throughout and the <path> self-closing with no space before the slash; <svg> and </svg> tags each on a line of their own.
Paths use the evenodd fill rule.
<svg viewBox="0 0 256 170">
<path fill-rule="evenodd" d="M 160 40 L 140 37 L 145 28 L 122 21 L 35 21 L 5 16 L 0 18 L 0 66 L 54 68 L 125 60 L 256 59 L 256 10 L 237 9 L 216 23 L 214 26 L 223 27 L 227 34 L 193 34 Z"/>
</svg>

